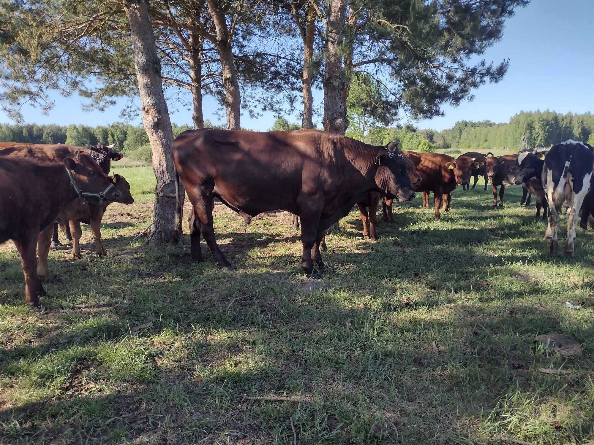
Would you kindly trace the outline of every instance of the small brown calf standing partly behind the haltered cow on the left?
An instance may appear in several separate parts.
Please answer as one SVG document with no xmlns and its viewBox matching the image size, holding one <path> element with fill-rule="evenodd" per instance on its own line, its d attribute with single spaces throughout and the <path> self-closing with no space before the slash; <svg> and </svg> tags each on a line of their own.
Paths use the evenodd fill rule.
<svg viewBox="0 0 594 445">
<path fill-rule="evenodd" d="M 121 193 L 121 198 L 116 202 L 122 204 L 133 204 L 134 198 L 130 193 L 130 185 L 124 176 L 119 174 L 113 175 L 113 183 L 116 189 Z M 80 223 L 89 224 L 93 232 L 93 239 L 95 241 L 95 251 L 97 255 L 107 255 L 107 250 L 103 249 L 101 243 L 101 220 L 103 214 L 110 202 L 103 202 L 103 204 L 91 204 L 90 202 L 83 202 L 82 199 L 75 199 L 70 204 L 62 207 L 56 217 L 56 221 L 61 225 L 65 232 L 66 224 L 70 225 L 70 231 L 74 235 L 72 239 L 72 256 L 80 258 L 80 237 L 81 229 Z M 45 246 L 43 247 L 45 249 Z M 41 248 L 39 249 L 42 250 Z"/>
</svg>

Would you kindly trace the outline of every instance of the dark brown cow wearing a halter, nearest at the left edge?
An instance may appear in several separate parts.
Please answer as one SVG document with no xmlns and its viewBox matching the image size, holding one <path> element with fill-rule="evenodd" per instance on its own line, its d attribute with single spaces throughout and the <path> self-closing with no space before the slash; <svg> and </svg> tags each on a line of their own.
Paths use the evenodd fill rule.
<svg viewBox="0 0 594 445">
<path fill-rule="evenodd" d="M 35 255 L 40 231 L 49 239 L 59 209 L 78 196 L 97 202 L 115 201 L 120 196 L 97 163 L 82 151 L 68 154 L 58 163 L 15 156 L 15 150 L 0 150 L 0 208 L 10 209 L 0 214 L 0 243 L 14 241 L 21 256 L 26 301 L 43 309 L 39 295 L 45 291 L 37 275 Z M 40 252 L 40 258 L 43 255 Z M 46 270 L 47 265 L 40 260 L 40 271 Z"/>
</svg>

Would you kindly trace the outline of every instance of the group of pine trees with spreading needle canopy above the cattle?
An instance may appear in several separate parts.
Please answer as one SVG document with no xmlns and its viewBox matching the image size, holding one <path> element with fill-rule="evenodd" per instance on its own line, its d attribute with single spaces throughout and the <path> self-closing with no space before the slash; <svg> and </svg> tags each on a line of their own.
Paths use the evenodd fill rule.
<svg viewBox="0 0 594 445">
<path fill-rule="evenodd" d="M 505 19 L 528 2 L 2 2 L 0 103 L 18 120 L 26 103 L 49 112 L 51 90 L 78 91 L 89 99 L 86 107 L 100 110 L 115 97 L 140 96 L 157 176 L 150 238 L 167 240 L 175 216 L 168 107 L 191 107 L 201 128 L 203 100 L 217 100 L 229 129 L 241 128 L 242 112 L 298 109 L 302 126 L 311 128 L 312 88 L 320 88 L 324 129 L 345 134 L 358 79 L 374 85 L 357 106 L 377 122 L 440 115 L 443 104 L 459 104 L 473 88 L 503 78 L 508 61 L 471 59 L 500 39 Z"/>
</svg>

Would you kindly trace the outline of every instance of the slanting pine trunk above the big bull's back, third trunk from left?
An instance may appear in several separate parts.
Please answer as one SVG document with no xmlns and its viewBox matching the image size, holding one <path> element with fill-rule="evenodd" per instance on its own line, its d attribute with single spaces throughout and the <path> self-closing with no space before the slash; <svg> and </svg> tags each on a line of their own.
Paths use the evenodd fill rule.
<svg viewBox="0 0 594 445">
<path fill-rule="evenodd" d="M 223 88 L 225 88 L 225 109 L 227 112 L 227 129 L 239 130 L 239 112 L 241 110 L 241 97 L 239 96 L 239 82 L 233 61 L 231 46 L 232 35 L 225 18 L 225 12 L 220 8 L 219 0 L 207 0 L 208 10 L 213 18 L 214 28 L 217 32 L 217 52 L 219 52 L 223 75 Z"/>
</svg>

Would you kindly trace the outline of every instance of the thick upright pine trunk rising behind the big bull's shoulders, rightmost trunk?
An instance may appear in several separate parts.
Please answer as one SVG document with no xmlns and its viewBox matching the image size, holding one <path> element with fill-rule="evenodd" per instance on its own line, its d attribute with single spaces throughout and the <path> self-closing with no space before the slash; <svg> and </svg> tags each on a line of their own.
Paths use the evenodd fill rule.
<svg viewBox="0 0 594 445">
<path fill-rule="evenodd" d="M 328 4 L 326 28 L 326 72 L 324 73 L 324 130 L 344 135 L 349 121 L 343 104 L 345 73 L 342 68 L 340 43 L 341 31 L 345 27 L 346 0 L 331 0 Z M 338 221 L 328 228 L 327 233 L 336 233 Z"/>
</svg>

